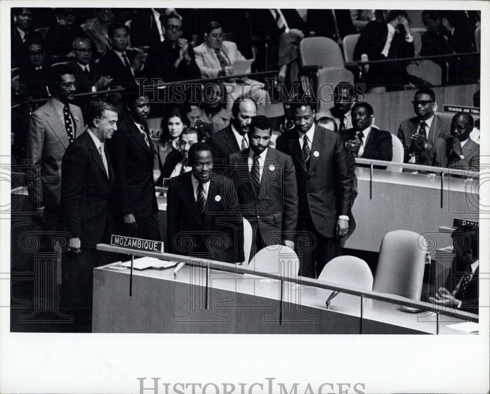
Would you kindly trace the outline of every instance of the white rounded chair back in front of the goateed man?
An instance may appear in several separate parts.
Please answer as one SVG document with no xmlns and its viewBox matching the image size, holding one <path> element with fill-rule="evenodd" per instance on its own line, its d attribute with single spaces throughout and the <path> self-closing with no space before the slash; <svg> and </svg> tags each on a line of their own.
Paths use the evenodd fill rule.
<svg viewBox="0 0 490 394">
<path fill-rule="evenodd" d="M 297 276 L 299 259 L 288 246 L 270 245 L 259 250 L 249 263 L 256 272 L 278 273 L 283 276 Z"/>
</svg>

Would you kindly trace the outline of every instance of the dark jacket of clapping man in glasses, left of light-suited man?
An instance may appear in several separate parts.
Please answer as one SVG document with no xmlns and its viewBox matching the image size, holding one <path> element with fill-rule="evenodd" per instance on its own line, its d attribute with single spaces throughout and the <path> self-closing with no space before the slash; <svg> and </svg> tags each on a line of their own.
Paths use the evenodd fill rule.
<svg viewBox="0 0 490 394">
<path fill-rule="evenodd" d="M 179 57 L 179 50 L 179 46 L 172 48 L 172 44 L 168 40 L 151 48 L 145 66 L 147 77 L 160 78 L 163 82 L 200 78 L 201 74 L 194 59 L 194 49 L 191 46 L 188 49 L 191 62 L 187 64 L 185 60 L 181 60 L 178 67 L 175 68 L 174 63 Z"/>
</svg>

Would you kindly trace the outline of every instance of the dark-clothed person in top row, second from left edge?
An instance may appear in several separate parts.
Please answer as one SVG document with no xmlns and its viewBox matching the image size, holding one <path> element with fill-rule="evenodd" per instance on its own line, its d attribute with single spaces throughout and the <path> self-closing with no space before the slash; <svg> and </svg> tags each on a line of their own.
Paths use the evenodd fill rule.
<svg viewBox="0 0 490 394">
<path fill-rule="evenodd" d="M 58 57 L 57 61 L 65 60 L 72 51 L 73 40 L 86 37 L 83 29 L 75 24 L 73 8 L 59 8 L 58 21 L 63 24 L 50 27 L 46 33 L 46 50 L 49 56 Z"/>
</svg>

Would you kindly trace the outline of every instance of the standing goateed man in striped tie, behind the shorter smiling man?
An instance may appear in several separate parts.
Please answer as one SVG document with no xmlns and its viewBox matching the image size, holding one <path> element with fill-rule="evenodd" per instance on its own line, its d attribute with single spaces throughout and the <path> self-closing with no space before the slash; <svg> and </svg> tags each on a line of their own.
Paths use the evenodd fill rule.
<svg viewBox="0 0 490 394">
<path fill-rule="evenodd" d="M 271 134 L 265 116 L 252 118 L 250 147 L 230 156 L 240 208 L 253 229 L 250 257 L 279 239 L 294 249 L 298 217 L 294 165 L 291 156 L 269 148 Z"/>
</svg>

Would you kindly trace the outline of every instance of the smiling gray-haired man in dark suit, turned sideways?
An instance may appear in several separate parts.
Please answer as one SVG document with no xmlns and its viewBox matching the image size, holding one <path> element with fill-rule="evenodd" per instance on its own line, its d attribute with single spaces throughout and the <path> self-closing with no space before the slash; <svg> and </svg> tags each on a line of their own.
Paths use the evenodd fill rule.
<svg viewBox="0 0 490 394">
<path fill-rule="evenodd" d="M 110 199 L 114 183 L 105 143 L 117 130 L 116 108 L 104 101 L 88 106 L 88 129 L 63 156 L 60 228 L 70 237 L 63 254 L 62 312 L 73 315 L 70 332 L 92 331 L 92 283 L 95 267 L 108 262 L 96 249 L 114 229 Z"/>
</svg>

